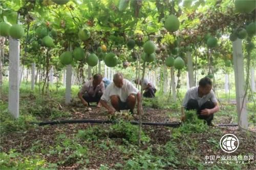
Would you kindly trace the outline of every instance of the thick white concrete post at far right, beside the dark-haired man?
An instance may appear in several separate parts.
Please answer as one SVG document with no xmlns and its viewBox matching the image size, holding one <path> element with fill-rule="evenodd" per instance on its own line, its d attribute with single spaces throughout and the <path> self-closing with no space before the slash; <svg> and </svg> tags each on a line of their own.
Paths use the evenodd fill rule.
<svg viewBox="0 0 256 170">
<path fill-rule="evenodd" d="M 246 111 L 245 80 L 244 80 L 244 58 L 242 50 L 242 40 L 237 39 L 232 42 L 234 80 L 236 84 L 236 100 L 238 112 L 239 129 L 248 129 L 248 119 Z"/>
</svg>

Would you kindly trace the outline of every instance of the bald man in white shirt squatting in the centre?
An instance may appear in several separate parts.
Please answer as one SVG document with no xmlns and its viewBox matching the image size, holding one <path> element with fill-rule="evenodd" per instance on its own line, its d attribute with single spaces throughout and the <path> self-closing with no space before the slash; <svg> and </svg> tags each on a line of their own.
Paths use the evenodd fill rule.
<svg viewBox="0 0 256 170">
<path fill-rule="evenodd" d="M 138 101 L 138 113 L 140 107 L 140 92 L 128 80 L 123 79 L 122 74 L 117 73 L 113 77 L 113 82 L 106 87 L 105 92 L 101 96 L 100 103 L 103 107 L 108 109 L 110 114 L 114 114 L 115 110 L 130 110 L 133 113 L 136 99 Z M 107 104 L 111 101 L 114 109 Z"/>
</svg>

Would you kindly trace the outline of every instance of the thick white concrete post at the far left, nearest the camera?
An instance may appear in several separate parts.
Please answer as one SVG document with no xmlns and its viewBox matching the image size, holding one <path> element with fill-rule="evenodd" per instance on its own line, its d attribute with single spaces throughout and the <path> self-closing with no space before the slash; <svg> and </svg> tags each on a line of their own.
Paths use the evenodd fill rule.
<svg viewBox="0 0 256 170">
<path fill-rule="evenodd" d="M 9 96 L 8 110 L 15 117 L 19 116 L 19 40 L 9 37 Z"/>
</svg>

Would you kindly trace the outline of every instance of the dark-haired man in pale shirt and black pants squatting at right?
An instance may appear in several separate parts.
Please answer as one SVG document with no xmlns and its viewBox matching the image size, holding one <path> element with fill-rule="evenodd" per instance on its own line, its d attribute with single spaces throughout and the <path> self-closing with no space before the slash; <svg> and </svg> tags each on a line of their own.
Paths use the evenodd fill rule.
<svg viewBox="0 0 256 170">
<path fill-rule="evenodd" d="M 197 110 L 198 118 L 204 119 L 207 125 L 211 125 L 214 113 L 220 110 L 212 88 L 212 82 L 205 77 L 199 81 L 199 86 L 187 90 L 183 106 L 186 110 Z"/>
</svg>

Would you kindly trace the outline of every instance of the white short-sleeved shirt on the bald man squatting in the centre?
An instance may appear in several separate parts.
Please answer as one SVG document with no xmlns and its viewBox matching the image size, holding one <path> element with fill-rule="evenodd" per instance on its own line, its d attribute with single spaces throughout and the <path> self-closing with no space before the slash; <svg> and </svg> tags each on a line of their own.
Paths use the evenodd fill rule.
<svg viewBox="0 0 256 170">
<path fill-rule="evenodd" d="M 123 79 L 121 88 L 117 87 L 114 82 L 108 85 L 101 96 L 101 100 L 109 102 L 112 95 L 118 95 L 122 102 L 126 102 L 130 94 L 137 94 L 138 92 L 139 90 L 129 80 Z"/>
</svg>

